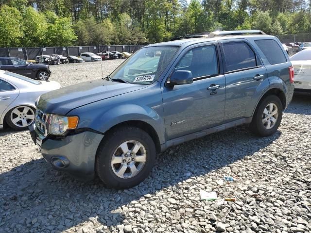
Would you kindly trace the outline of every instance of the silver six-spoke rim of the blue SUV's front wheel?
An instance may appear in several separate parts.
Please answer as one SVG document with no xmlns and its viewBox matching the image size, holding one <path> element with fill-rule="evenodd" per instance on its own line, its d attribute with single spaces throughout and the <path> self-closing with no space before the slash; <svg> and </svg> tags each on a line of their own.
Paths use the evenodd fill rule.
<svg viewBox="0 0 311 233">
<path fill-rule="evenodd" d="M 147 153 L 145 147 L 138 141 L 123 142 L 111 159 L 111 167 L 115 175 L 122 179 L 136 176 L 146 163 Z"/>
</svg>

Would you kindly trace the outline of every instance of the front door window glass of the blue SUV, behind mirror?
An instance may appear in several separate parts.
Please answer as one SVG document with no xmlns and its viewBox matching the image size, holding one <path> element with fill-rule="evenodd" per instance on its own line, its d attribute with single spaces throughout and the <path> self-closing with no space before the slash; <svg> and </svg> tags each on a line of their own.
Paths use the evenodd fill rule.
<svg viewBox="0 0 311 233">
<path fill-rule="evenodd" d="M 175 70 L 189 70 L 193 79 L 218 74 L 215 46 L 209 45 L 191 49 L 179 61 Z"/>
</svg>

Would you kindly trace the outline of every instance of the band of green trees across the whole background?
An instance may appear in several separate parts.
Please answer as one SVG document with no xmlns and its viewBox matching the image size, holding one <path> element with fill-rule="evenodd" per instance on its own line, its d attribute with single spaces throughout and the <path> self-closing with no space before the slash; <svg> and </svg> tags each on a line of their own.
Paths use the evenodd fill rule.
<svg viewBox="0 0 311 233">
<path fill-rule="evenodd" d="M 0 11 L 0 46 L 12 47 L 145 44 L 214 30 L 311 32 L 304 0 L 0 0 Z"/>
</svg>

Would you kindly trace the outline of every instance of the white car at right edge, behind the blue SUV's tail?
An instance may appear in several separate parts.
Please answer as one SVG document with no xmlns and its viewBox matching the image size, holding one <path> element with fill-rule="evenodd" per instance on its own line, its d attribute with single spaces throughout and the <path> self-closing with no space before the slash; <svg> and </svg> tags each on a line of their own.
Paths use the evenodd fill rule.
<svg viewBox="0 0 311 233">
<path fill-rule="evenodd" d="M 311 92 L 311 49 L 297 52 L 290 60 L 294 67 L 295 91 Z"/>
</svg>

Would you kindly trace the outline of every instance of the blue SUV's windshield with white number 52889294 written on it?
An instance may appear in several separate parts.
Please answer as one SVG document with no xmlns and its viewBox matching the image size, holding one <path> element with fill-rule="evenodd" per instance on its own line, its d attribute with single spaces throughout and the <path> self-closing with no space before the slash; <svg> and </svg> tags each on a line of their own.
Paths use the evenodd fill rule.
<svg viewBox="0 0 311 233">
<path fill-rule="evenodd" d="M 176 46 L 142 48 L 118 67 L 110 78 L 137 84 L 153 83 L 167 67 L 177 50 Z"/>
</svg>

